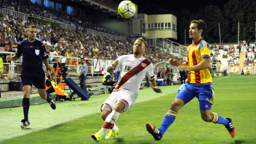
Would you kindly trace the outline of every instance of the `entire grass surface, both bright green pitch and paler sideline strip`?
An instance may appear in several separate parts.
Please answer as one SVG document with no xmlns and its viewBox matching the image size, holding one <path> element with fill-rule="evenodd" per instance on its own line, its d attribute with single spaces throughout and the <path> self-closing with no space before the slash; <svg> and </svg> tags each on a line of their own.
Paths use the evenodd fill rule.
<svg viewBox="0 0 256 144">
<path fill-rule="evenodd" d="M 156 127 L 170 108 L 180 84 L 161 86 L 163 93 L 151 88 L 140 90 L 134 107 L 119 115 L 117 137 L 104 137 L 97 143 L 256 143 L 256 75 L 213 78 L 214 113 L 233 120 L 236 137 L 231 138 L 222 124 L 204 122 L 195 98 L 178 111 L 174 123 L 160 141 L 146 130 L 149 122 Z M 88 101 L 56 102 L 30 106 L 28 129 L 20 128 L 22 107 L 0 109 L 0 143 L 96 143 L 91 135 L 103 121 L 100 106 L 109 94 L 91 96 Z"/>
</svg>

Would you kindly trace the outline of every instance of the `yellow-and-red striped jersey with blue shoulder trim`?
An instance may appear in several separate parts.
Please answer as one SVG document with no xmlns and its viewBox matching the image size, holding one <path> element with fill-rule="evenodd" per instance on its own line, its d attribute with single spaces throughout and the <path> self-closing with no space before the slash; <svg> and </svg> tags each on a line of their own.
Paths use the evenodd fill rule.
<svg viewBox="0 0 256 144">
<path fill-rule="evenodd" d="M 201 39 L 195 44 L 191 44 L 188 46 L 186 63 L 188 64 L 189 67 L 192 67 L 202 62 L 203 58 L 211 59 L 210 55 L 211 54 L 209 44 Z M 212 83 L 212 76 L 208 68 L 189 71 L 186 82 L 190 84 Z"/>
</svg>

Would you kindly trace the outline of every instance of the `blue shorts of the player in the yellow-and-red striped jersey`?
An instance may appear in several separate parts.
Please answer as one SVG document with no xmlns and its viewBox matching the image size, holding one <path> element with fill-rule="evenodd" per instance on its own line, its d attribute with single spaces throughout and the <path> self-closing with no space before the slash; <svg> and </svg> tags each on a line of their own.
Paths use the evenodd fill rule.
<svg viewBox="0 0 256 144">
<path fill-rule="evenodd" d="M 190 100 L 197 98 L 200 110 L 211 110 L 214 103 L 214 88 L 212 84 L 190 84 L 185 83 L 180 86 L 175 99 L 182 99 L 188 103 Z"/>
</svg>

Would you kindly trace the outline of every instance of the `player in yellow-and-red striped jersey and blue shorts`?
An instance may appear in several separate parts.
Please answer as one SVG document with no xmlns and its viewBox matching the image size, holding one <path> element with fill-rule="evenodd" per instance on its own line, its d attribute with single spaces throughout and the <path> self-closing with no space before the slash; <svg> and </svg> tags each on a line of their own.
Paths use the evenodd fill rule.
<svg viewBox="0 0 256 144">
<path fill-rule="evenodd" d="M 189 71 L 188 78 L 186 79 L 186 83 L 181 85 L 178 90 L 178 94 L 172 102 L 171 108 L 164 116 L 161 127 L 157 129 L 150 123 L 146 124 L 147 131 L 153 135 L 155 140 L 161 140 L 168 127 L 174 122 L 178 110 L 195 97 L 199 101 L 202 119 L 205 122 L 225 125 L 230 136 L 232 138 L 235 137 L 236 130 L 231 119 L 223 118 L 219 114 L 212 113 L 211 111 L 214 102 L 214 88 L 209 71 L 211 63 L 210 46 L 202 39 L 205 29 L 206 23 L 203 20 L 191 21 L 189 38 L 191 38 L 192 44 L 188 46 L 186 62 L 181 63 L 175 59 L 169 59 L 169 63 L 177 66 L 179 70 Z"/>
</svg>

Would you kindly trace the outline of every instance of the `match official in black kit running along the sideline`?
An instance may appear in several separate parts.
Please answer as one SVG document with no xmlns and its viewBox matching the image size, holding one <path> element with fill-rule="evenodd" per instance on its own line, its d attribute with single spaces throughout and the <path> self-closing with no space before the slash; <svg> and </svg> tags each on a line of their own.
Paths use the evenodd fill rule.
<svg viewBox="0 0 256 144">
<path fill-rule="evenodd" d="M 10 55 L 6 57 L 7 61 L 18 60 L 21 57 L 21 54 L 23 54 L 21 79 L 23 86 L 22 106 L 24 119 L 22 119 L 22 125 L 20 126 L 22 129 L 30 125 L 28 122 L 28 110 L 32 84 L 37 87 L 40 97 L 44 100 L 46 99 L 47 102 L 50 103 L 52 109 L 56 108 L 55 102 L 45 91 L 45 74 L 42 68 L 42 61 L 45 63 L 47 76 L 50 76 L 49 61 L 47 59 L 49 56 L 46 53 L 43 43 L 36 40 L 36 26 L 29 26 L 27 28 L 27 35 L 28 39 L 20 42 L 15 54 L 12 57 Z"/>
</svg>

